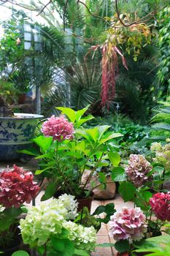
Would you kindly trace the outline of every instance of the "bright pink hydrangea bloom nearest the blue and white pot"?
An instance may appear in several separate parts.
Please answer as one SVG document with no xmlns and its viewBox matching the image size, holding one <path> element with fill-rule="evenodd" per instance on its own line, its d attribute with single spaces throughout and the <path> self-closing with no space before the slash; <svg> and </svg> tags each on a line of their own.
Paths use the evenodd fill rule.
<svg viewBox="0 0 170 256">
<path fill-rule="evenodd" d="M 46 137 L 52 136 L 53 140 L 72 140 L 74 127 L 63 116 L 51 116 L 42 124 L 42 132 Z"/>
</svg>

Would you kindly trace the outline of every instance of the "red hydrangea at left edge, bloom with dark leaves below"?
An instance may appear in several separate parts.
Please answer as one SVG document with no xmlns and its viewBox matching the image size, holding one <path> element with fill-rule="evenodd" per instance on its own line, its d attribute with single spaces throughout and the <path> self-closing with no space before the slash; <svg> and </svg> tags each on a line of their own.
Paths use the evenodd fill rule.
<svg viewBox="0 0 170 256">
<path fill-rule="evenodd" d="M 31 172 L 16 165 L 0 173 L 0 251 L 5 256 L 20 248 L 18 225 L 23 203 L 30 203 L 39 191 L 33 178 Z"/>
</svg>

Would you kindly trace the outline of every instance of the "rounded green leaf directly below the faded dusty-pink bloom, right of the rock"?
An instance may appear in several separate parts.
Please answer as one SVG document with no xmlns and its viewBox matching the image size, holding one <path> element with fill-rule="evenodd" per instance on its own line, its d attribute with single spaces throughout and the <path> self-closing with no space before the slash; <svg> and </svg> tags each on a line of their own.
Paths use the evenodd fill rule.
<svg viewBox="0 0 170 256">
<path fill-rule="evenodd" d="M 119 186 L 120 195 L 123 197 L 125 202 L 128 202 L 134 198 L 136 187 L 128 181 L 123 181 Z"/>
</svg>

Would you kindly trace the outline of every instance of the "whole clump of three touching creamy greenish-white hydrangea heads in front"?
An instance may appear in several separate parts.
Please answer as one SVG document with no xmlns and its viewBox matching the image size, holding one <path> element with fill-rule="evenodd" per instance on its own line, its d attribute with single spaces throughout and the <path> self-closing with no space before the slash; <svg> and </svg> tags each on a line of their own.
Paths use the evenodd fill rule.
<svg viewBox="0 0 170 256">
<path fill-rule="evenodd" d="M 20 230 L 24 244 L 31 247 L 43 246 L 50 239 L 62 233 L 63 228 L 69 231 L 68 238 L 74 241 L 77 249 L 92 252 L 96 246 L 94 227 L 83 227 L 69 219 L 77 216 L 77 202 L 72 195 L 61 195 L 48 203 L 28 208 L 26 219 L 20 219 Z"/>
</svg>

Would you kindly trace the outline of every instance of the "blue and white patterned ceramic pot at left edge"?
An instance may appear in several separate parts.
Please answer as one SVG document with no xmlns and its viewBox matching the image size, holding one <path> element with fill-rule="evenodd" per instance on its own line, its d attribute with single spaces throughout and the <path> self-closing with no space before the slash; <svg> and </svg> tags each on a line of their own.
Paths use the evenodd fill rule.
<svg viewBox="0 0 170 256">
<path fill-rule="evenodd" d="M 14 117 L 0 117 L 0 160 L 20 159 L 18 150 L 31 146 L 37 122 L 43 116 L 15 113 Z"/>
</svg>

